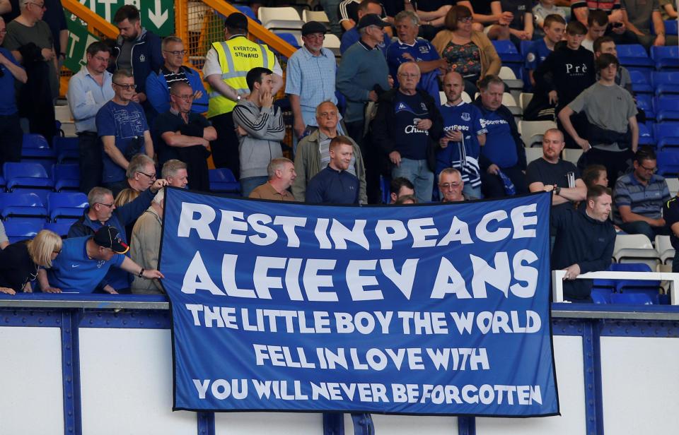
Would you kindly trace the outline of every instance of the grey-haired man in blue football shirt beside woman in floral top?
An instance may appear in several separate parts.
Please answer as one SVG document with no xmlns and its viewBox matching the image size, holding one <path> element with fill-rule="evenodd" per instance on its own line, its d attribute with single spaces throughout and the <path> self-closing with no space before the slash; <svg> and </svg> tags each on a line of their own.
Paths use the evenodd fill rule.
<svg viewBox="0 0 679 435">
<path fill-rule="evenodd" d="M 417 37 L 419 17 L 413 11 L 400 11 L 394 18 L 394 27 L 398 37 L 387 49 L 389 73 L 394 78 L 394 87 L 398 85 L 398 67 L 405 62 L 415 62 L 422 76 L 417 88 L 429 93 L 437 104 L 441 104 L 439 74 L 448 68 L 448 61 L 441 59 L 433 45 L 422 37 Z"/>
</svg>

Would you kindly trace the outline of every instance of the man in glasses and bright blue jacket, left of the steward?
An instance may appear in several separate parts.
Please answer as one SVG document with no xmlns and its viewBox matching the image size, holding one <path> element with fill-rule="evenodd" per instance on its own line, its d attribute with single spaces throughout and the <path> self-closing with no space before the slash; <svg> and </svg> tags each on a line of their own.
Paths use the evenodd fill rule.
<svg viewBox="0 0 679 435">
<path fill-rule="evenodd" d="M 184 42 L 180 37 L 168 36 L 161 44 L 165 63 L 146 77 L 146 97 L 156 114 L 170 110 L 170 88 L 174 83 L 188 83 L 193 90 L 191 112 L 207 112 L 208 95 L 198 71 L 184 65 Z"/>
</svg>

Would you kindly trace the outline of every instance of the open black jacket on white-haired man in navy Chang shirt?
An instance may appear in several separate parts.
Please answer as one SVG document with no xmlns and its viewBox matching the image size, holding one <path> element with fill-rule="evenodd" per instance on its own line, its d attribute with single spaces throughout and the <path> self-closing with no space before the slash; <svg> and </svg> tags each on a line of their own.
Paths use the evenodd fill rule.
<svg viewBox="0 0 679 435">
<path fill-rule="evenodd" d="M 394 140 L 391 136 L 392 127 L 395 125 L 394 99 L 397 89 L 391 89 L 380 95 L 378 100 L 377 114 L 371 124 L 371 140 L 373 146 L 378 148 L 383 157 L 388 161 L 388 155 L 394 150 Z M 426 110 L 431 117 L 431 129 L 429 129 L 429 143 L 426 147 L 426 164 L 429 166 L 431 172 L 436 171 L 436 147 L 439 146 L 439 138 L 443 133 L 443 117 L 439 112 L 439 107 L 431 97 L 424 90 L 417 90 L 417 93 L 424 104 Z"/>
</svg>

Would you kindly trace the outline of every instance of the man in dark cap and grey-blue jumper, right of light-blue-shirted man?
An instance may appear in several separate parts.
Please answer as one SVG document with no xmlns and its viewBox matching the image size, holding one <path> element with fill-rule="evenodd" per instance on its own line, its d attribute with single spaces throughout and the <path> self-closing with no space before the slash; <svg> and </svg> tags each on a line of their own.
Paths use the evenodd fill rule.
<svg viewBox="0 0 679 435">
<path fill-rule="evenodd" d="M 377 102 L 377 90 L 389 90 L 389 67 L 378 44 L 384 40 L 387 25 L 376 13 L 368 13 L 359 20 L 361 39 L 342 55 L 337 69 L 337 90 L 347 98 L 344 124 L 349 136 L 359 144 L 366 166 L 368 203 L 380 201 L 380 171 L 374 147 L 364 141 L 366 105 Z"/>
</svg>

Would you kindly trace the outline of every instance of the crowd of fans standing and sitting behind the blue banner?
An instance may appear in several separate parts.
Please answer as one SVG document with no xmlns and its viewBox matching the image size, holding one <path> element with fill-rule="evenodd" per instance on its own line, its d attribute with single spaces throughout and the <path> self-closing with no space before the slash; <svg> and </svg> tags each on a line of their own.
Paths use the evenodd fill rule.
<svg viewBox="0 0 679 435">
<path fill-rule="evenodd" d="M 644 114 L 615 52 L 616 43 L 676 44 L 661 16 L 674 13 L 671 4 L 561 3 L 321 1 L 342 37 L 342 59 L 337 65 L 323 47 L 325 25 L 311 21 L 285 75 L 267 45 L 248 39 L 247 18 L 233 13 L 224 40 L 206 54 L 203 80 L 183 64 L 180 38 L 161 40 L 141 27 L 136 7 L 122 6 L 113 17 L 115 47 L 90 44 L 67 95 L 89 207 L 63 242 L 44 230 L 6 247 L 0 291 L 28 291 L 37 277 L 44 292 L 162 292 L 163 186 L 209 191 L 209 155 L 233 172 L 243 196 L 273 201 L 376 204 L 389 183 L 386 202 L 396 204 L 551 192 L 555 267 L 569 279 L 610 264 L 611 210 L 628 233 L 652 240 L 679 232 L 679 218 L 663 220 L 663 204 L 666 215 L 679 205 L 654 174 L 653 151 L 638 146 Z M 47 124 L 63 42 L 43 21 L 42 0 L 19 0 L 18 8 L 10 23 L 0 20 L 2 162 L 21 155 L 21 117 L 30 131 L 54 136 Z M 525 119 L 558 121 L 530 165 L 502 104 L 506 86 L 491 42 L 502 39 L 533 41 L 526 68 L 535 95 Z M 25 83 L 16 95 L 15 82 Z M 281 89 L 294 119 L 292 160 L 275 101 Z M 464 102 L 465 92 L 475 100 Z M 564 147 L 583 151 L 578 165 L 561 159 Z M 586 288 L 566 291 L 588 299 Z"/>
</svg>

